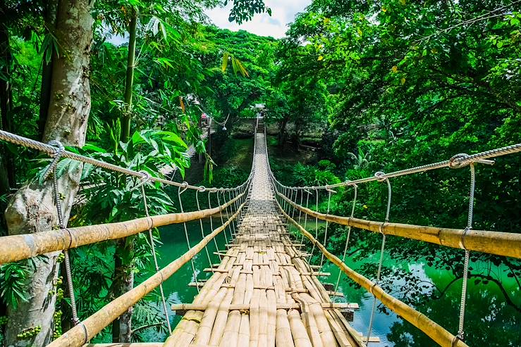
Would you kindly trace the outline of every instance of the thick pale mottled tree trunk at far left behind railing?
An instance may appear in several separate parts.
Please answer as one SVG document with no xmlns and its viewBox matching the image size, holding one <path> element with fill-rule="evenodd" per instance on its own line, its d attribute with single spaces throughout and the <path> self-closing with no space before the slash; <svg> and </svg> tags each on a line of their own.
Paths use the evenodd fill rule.
<svg viewBox="0 0 521 347">
<path fill-rule="evenodd" d="M 54 34 L 61 51 L 53 56 L 50 102 L 44 127 L 44 141 L 57 139 L 64 145 L 85 144 L 87 119 L 90 113 L 89 65 L 92 24 L 92 1 L 61 0 L 56 9 Z M 58 187 L 63 217 L 67 221 L 81 176 L 82 168 L 59 177 Z M 6 220 L 9 234 L 43 232 L 58 224 L 51 179 L 42 185 L 26 184 L 8 204 Z M 15 310 L 8 307 L 7 346 L 45 346 L 52 337 L 55 289 L 59 252 L 35 258 L 36 271 L 26 288 L 29 302 L 20 302 Z M 17 335 L 30 327 L 41 332 L 29 339 Z"/>
</svg>

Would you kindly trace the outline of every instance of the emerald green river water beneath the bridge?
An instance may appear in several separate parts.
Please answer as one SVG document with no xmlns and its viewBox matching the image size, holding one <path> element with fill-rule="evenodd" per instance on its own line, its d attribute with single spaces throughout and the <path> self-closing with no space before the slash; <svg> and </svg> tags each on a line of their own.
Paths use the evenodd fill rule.
<svg viewBox="0 0 521 347">
<path fill-rule="evenodd" d="M 220 220 L 214 219 L 214 227 L 220 225 Z M 190 237 L 190 245 L 194 246 L 202 239 L 199 222 L 187 223 L 188 234 Z M 203 222 L 204 232 L 208 234 L 210 229 L 209 220 Z M 164 267 L 172 260 L 188 250 L 185 239 L 183 225 L 170 225 L 162 227 L 161 241 L 163 244 L 159 246 L 159 267 Z M 226 231 L 228 233 L 228 230 Z M 228 234 L 229 237 L 229 234 Z M 225 249 L 225 236 L 219 234 L 216 239 L 219 248 Z M 209 253 L 212 263 L 219 263 L 218 255 L 214 255 L 216 251 L 214 243 L 209 244 Z M 367 262 L 376 263 L 379 255 L 370 255 Z M 393 268 L 400 268 L 407 272 L 415 272 L 415 274 L 426 281 L 432 282 L 443 288 L 452 279 L 453 275 L 445 270 L 436 270 L 427 266 L 425 263 L 396 263 L 392 260 L 392 255 L 386 254 L 385 265 Z M 354 264 L 350 260 L 346 263 L 355 270 L 360 267 L 360 263 Z M 203 250 L 194 258 L 194 265 L 198 279 L 207 279 L 211 273 L 202 272 L 205 267 L 209 267 L 207 253 Z M 471 264 L 472 266 L 472 264 Z M 477 266 L 474 264 L 474 266 Z M 479 266 L 485 266 L 483 264 Z M 338 268 L 331 263 L 324 264 L 324 271 L 331 272 L 331 277 L 325 278 L 324 282 L 336 283 L 338 277 Z M 517 305 L 521 305 L 521 294 L 519 287 L 513 279 L 506 275 L 498 274 L 501 279 L 505 291 Z M 183 265 L 176 274 L 164 283 L 164 291 L 171 303 L 191 303 L 197 294 L 195 286 L 188 286 L 188 283 L 194 282 L 192 267 L 190 262 Z M 372 313 L 373 297 L 364 289 L 355 289 L 349 285 L 345 275 L 341 277 L 338 291 L 345 294 L 348 301 L 358 303 L 360 310 L 355 312 L 355 320 L 352 323 L 357 331 L 367 335 L 367 327 Z M 405 283 L 404 279 L 393 280 L 393 285 L 399 289 Z M 428 290 L 425 290 L 428 294 Z M 455 334 L 458 331 L 459 302 L 461 296 L 461 281 L 450 286 L 446 294 L 438 300 L 429 299 L 426 303 L 417 305 L 417 310 L 426 314 L 435 322 L 448 329 L 449 332 Z M 338 301 L 342 301 L 339 299 Z M 378 302 L 379 303 L 379 302 Z M 178 316 L 172 316 L 171 322 L 175 326 L 180 320 Z M 505 303 L 505 299 L 496 284 L 489 283 L 486 285 L 475 285 L 474 281 L 470 281 L 467 296 L 467 309 L 465 314 L 465 336 L 469 346 L 513 346 L 521 347 L 521 313 L 512 305 Z M 378 336 L 380 343 L 369 343 L 369 346 L 437 346 L 428 336 L 419 332 L 409 323 L 402 320 L 393 313 L 383 313 L 376 309 L 374 315 L 374 323 L 372 336 Z M 158 336 L 159 337 L 159 336 Z M 163 336 L 164 337 L 164 336 Z"/>
</svg>

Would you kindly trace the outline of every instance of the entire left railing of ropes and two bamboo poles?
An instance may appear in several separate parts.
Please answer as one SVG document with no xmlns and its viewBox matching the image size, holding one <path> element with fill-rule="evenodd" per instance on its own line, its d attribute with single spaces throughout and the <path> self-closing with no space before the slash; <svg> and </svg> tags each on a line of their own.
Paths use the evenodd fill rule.
<svg viewBox="0 0 521 347">
<path fill-rule="evenodd" d="M 74 153 L 73 151 L 67 151 L 65 147 L 59 141 L 51 141 L 48 144 L 44 144 L 39 141 L 35 141 L 32 139 L 27 139 L 25 137 L 21 137 L 16 134 L 11 134 L 9 132 L 5 132 L 0 130 L 0 140 L 11 142 L 12 144 L 25 146 L 30 149 L 36 149 L 37 151 L 42 151 L 43 153 L 49 154 L 49 156 L 53 157 L 51 160 L 51 164 L 47 166 L 47 169 L 44 171 L 43 179 L 47 179 L 50 173 L 56 174 L 56 165 L 62 158 L 70 158 L 72 160 L 78 160 L 81 163 L 89 163 L 90 165 L 94 165 L 97 168 L 102 168 L 105 170 L 110 170 L 113 172 L 118 172 L 123 175 L 127 175 L 130 177 L 137 177 L 139 181 L 134 185 L 133 189 L 141 188 L 142 200 L 145 206 L 145 215 L 146 217 L 136 218 L 134 220 L 128 220 L 125 222 L 116 222 L 116 223 L 106 223 L 101 225 L 89 225 L 82 227 L 66 227 L 66 222 L 61 219 L 61 203 L 59 202 L 59 198 L 55 199 L 56 210 L 59 215 L 59 228 L 51 229 L 45 232 L 38 232 L 34 234 L 18 234 L 18 235 L 10 235 L 10 236 L 2 236 L 0 237 L 0 265 L 4 263 L 13 262 L 16 260 L 23 260 L 27 258 L 32 258 L 37 255 L 42 255 L 45 253 L 53 252 L 53 251 L 63 251 L 66 254 L 66 269 L 67 269 L 67 283 L 69 284 L 68 292 L 69 297 L 71 298 L 71 309 L 73 311 L 73 327 L 71 334 L 83 334 L 82 342 L 78 342 L 77 346 L 81 346 L 86 343 L 92 336 L 97 334 L 97 332 L 101 331 L 104 327 L 106 327 L 110 322 L 116 320 L 123 313 L 127 313 L 128 309 L 130 309 L 140 298 L 148 294 L 152 289 L 155 289 L 159 286 L 161 291 L 161 302 L 164 308 L 164 315 L 166 320 L 166 325 L 168 327 L 168 331 L 171 332 L 170 322 L 168 318 L 168 311 L 166 309 L 166 300 L 164 297 L 164 291 L 162 288 L 162 282 L 164 279 L 171 276 L 180 266 L 189 260 L 192 262 L 192 272 L 197 282 L 197 273 L 195 271 L 195 266 L 193 264 L 193 257 L 197 254 L 202 248 L 206 249 L 208 258 L 209 252 L 207 250 L 207 244 L 212 239 L 216 244 L 214 236 L 219 234 L 222 230 L 226 229 L 227 226 L 233 224 L 233 220 L 240 213 L 240 210 L 245 205 L 246 194 L 250 188 L 250 184 L 252 182 L 253 172 L 255 170 L 255 162 L 252 163 L 252 170 L 250 171 L 250 175 L 247 177 L 243 184 L 238 185 L 237 187 L 232 188 L 207 188 L 204 186 L 196 187 L 188 182 L 173 182 L 168 179 L 161 178 L 161 174 L 158 172 L 147 172 L 147 171 L 135 171 L 130 170 L 128 168 L 123 168 L 118 165 L 113 165 L 110 163 L 105 163 L 102 160 L 97 160 L 94 158 L 90 158 L 88 156 L 82 156 L 79 153 Z M 255 148 L 255 147 L 254 147 Z M 255 153 L 255 149 L 254 149 Z M 56 190 L 57 184 L 56 175 L 52 176 L 54 180 L 54 195 L 59 196 L 59 191 Z M 178 187 L 178 203 L 180 207 L 180 213 L 170 213 L 165 215 L 155 215 L 150 216 L 148 207 L 147 207 L 147 198 L 145 195 L 144 186 L 148 182 L 157 182 L 159 184 L 166 184 L 168 186 Z M 195 191 L 195 196 L 197 200 L 197 211 L 192 212 L 184 212 L 183 210 L 183 202 L 181 201 L 181 196 L 184 191 L 190 189 Z M 199 203 L 199 194 L 207 191 L 208 194 L 208 208 L 201 210 Z M 228 199 L 226 199 L 226 192 L 228 193 Z M 211 206 L 211 198 L 210 194 L 215 193 L 218 199 L 218 206 L 212 208 Z M 223 203 L 219 201 L 219 195 L 223 194 Z M 231 209 L 231 212 L 235 209 L 235 214 L 231 217 L 228 214 L 228 207 Z M 228 220 L 224 222 L 222 220 L 222 211 L 226 210 L 226 217 Z M 212 215 L 216 213 L 221 213 L 221 227 L 217 229 L 213 229 L 212 232 L 208 236 L 204 236 L 204 230 L 202 227 L 202 218 L 210 217 L 212 220 Z M 195 247 L 190 246 L 190 241 L 188 240 L 188 229 L 186 227 L 186 222 L 192 220 L 200 220 L 200 227 L 203 239 L 197 244 Z M 188 252 L 185 253 L 181 258 L 174 261 L 170 265 L 168 265 L 163 270 L 159 270 L 157 264 L 157 258 L 155 254 L 155 245 L 154 238 L 152 236 L 152 229 L 155 227 L 161 227 L 164 225 L 171 225 L 175 223 L 183 223 L 185 229 L 185 236 L 188 243 Z M 134 234 L 138 234 L 140 232 L 149 232 L 149 242 L 151 246 L 152 255 L 154 258 L 154 268 L 156 270 L 156 274 L 150 277 L 147 281 L 143 282 L 139 286 L 136 286 L 134 289 L 128 291 L 123 294 L 119 298 L 116 298 L 115 301 L 112 301 L 108 305 L 104 307 L 104 313 L 96 313 L 94 314 L 96 319 L 94 319 L 94 332 L 92 335 L 89 335 L 89 330 L 87 330 L 87 325 L 80 322 L 78 315 L 76 314 L 75 308 L 75 297 L 74 290 L 72 286 L 72 273 L 71 273 L 71 265 L 68 261 L 68 250 L 71 248 L 75 248 L 78 246 L 84 246 L 87 244 L 94 244 L 100 241 L 121 239 L 127 236 L 131 236 Z M 187 260 L 183 260 L 186 259 Z M 209 259 L 210 260 L 210 259 Z M 210 262 L 211 265 L 211 262 Z M 199 287 L 197 286 L 199 290 Z M 124 298 L 124 299 L 122 299 Z M 114 312 L 118 312 L 114 314 Z M 101 318 L 103 317 L 103 318 Z M 87 319 L 86 322 L 90 322 Z M 100 325 L 101 324 L 101 325 Z M 105 324 L 103 327 L 101 327 Z M 98 329 L 101 327 L 101 329 Z M 61 342 L 56 342 L 58 344 L 61 343 L 62 346 L 73 346 L 67 338 L 59 339 Z M 58 340 L 56 340 L 58 341 Z M 54 343 L 51 343 L 51 345 Z"/>
</svg>

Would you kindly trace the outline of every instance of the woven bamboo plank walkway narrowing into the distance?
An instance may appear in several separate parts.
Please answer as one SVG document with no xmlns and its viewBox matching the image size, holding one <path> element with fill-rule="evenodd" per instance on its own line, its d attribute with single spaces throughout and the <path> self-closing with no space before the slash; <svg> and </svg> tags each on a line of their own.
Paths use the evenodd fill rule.
<svg viewBox="0 0 521 347">
<path fill-rule="evenodd" d="M 249 203 L 212 277 L 165 346 L 363 346 L 292 244 L 269 181 L 264 134 L 257 133 Z M 174 308 L 180 305 L 174 305 Z"/>
</svg>

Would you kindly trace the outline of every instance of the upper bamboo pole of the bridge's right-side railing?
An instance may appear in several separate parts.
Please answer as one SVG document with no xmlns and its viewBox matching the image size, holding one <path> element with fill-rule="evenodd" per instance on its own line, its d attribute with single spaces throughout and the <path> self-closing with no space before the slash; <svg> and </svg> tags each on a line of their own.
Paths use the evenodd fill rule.
<svg viewBox="0 0 521 347">
<path fill-rule="evenodd" d="M 440 227 L 427 227 L 423 225 L 410 225 L 389 222 L 374 222 L 359 218 L 341 217 L 338 215 L 325 215 L 309 208 L 294 203 L 289 198 L 276 192 L 291 206 L 298 210 L 340 225 L 349 225 L 370 232 L 382 232 L 386 235 L 400 236 L 417 241 L 426 241 L 431 244 L 439 244 L 451 248 L 467 249 L 495 255 L 505 255 L 513 258 L 521 258 L 521 234 L 513 232 L 491 232 L 486 230 L 448 229 Z"/>
</svg>

